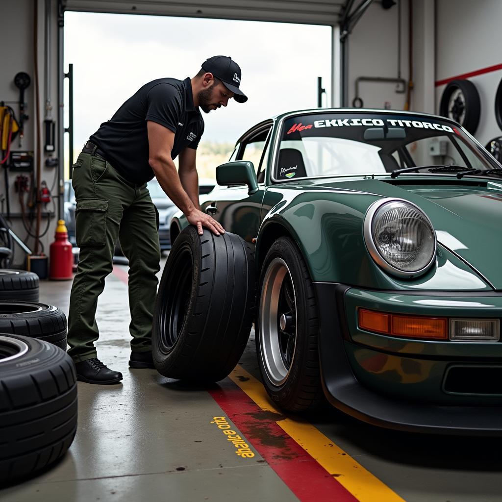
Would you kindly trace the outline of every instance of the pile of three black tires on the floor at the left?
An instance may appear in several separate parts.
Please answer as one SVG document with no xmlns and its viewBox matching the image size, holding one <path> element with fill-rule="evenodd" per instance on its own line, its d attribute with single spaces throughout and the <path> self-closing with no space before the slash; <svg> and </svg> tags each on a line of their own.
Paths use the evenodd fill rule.
<svg viewBox="0 0 502 502">
<path fill-rule="evenodd" d="M 0 270 L 0 486 L 56 462 L 77 428 L 66 317 L 38 301 L 36 274 Z"/>
</svg>

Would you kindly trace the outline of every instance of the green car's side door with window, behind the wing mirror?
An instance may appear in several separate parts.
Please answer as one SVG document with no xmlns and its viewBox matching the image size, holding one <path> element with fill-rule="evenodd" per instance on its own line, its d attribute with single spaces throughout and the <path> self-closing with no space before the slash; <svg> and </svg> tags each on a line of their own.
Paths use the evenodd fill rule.
<svg viewBox="0 0 502 502">
<path fill-rule="evenodd" d="M 253 162 L 258 175 L 258 191 L 248 194 L 246 185 L 218 187 L 212 199 L 202 204 L 202 210 L 212 214 L 226 231 L 240 235 L 247 242 L 258 235 L 260 213 L 265 193 L 264 159 L 270 143 L 273 122 L 261 122 L 245 133 L 237 142 L 230 160 Z M 260 179 L 262 178 L 262 179 Z"/>
</svg>

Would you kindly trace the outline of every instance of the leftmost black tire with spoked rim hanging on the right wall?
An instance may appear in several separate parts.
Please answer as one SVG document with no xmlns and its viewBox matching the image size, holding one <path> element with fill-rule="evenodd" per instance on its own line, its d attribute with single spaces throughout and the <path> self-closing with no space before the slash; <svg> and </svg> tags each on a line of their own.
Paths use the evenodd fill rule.
<svg viewBox="0 0 502 502">
<path fill-rule="evenodd" d="M 456 99 L 452 108 L 450 98 L 457 90 L 461 91 L 463 98 Z M 465 112 L 465 116 L 461 118 L 463 112 Z M 470 134 L 474 134 L 481 115 L 481 100 L 476 86 L 470 80 L 452 80 L 445 87 L 441 96 L 439 113 L 444 117 L 456 120 Z"/>
</svg>

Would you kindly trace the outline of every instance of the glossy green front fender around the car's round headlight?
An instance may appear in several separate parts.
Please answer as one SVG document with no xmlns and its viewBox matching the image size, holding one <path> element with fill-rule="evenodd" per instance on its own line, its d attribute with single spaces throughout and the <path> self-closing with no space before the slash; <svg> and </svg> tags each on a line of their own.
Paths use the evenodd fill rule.
<svg viewBox="0 0 502 502">
<path fill-rule="evenodd" d="M 269 206 L 258 234 L 258 263 L 279 232 L 295 240 L 307 262 L 310 276 L 316 282 L 387 290 L 490 289 L 475 272 L 440 244 L 436 262 L 419 278 L 399 279 L 382 270 L 369 255 L 363 238 L 366 210 L 378 198 L 367 193 L 320 191 L 300 191 L 294 195 L 283 192 L 281 197 L 279 191 L 275 192 L 275 204 Z M 266 206 L 264 204 L 264 208 Z"/>
</svg>

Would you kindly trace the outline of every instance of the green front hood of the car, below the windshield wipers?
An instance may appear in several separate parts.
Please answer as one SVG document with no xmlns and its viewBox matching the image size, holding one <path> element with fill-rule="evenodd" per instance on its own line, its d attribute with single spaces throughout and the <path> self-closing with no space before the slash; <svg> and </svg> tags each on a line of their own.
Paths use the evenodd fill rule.
<svg viewBox="0 0 502 502">
<path fill-rule="evenodd" d="M 431 219 L 438 242 L 475 269 L 494 289 L 502 290 L 502 182 L 449 179 L 375 178 L 349 181 L 309 180 L 302 190 L 353 190 L 396 197 L 419 206 Z"/>
</svg>

